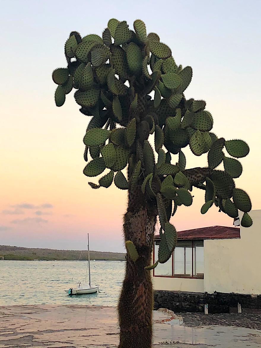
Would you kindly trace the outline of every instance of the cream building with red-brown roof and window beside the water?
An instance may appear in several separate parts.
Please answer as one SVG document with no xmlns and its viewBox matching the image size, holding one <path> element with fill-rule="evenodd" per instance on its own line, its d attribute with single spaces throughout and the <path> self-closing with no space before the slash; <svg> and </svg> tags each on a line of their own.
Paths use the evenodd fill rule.
<svg viewBox="0 0 261 348">
<path fill-rule="evenodd" d="M 213 226 L 178 233 L 172 257 L 153 270 L 154 290 L 212 294 L 261 294 L 261 210 L 251 211 L 253 225 Z M 155 237 L 153 261 L 158 259 Z"/>
</svg>

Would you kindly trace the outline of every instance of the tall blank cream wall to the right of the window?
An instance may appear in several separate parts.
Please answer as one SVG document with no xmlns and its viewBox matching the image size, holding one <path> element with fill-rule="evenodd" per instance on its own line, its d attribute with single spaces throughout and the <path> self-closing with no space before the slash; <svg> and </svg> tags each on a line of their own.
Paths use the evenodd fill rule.
<svg viewBox="0 0 261 348">
<path fill-rule="evenodd" d="M 240 239 L 204 240 L 204 292 L 261 294 L 261 210 L 249 214 Z"/>
</svg>

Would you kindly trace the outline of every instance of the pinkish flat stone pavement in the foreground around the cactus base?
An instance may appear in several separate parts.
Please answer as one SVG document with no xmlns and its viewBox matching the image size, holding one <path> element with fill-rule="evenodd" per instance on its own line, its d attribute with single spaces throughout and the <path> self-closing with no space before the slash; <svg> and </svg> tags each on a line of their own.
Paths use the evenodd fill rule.
<svg viewBox="0 0 261 348">
<path fill-rule="evenodd" d="M 187 314 L 182 315 L 185 323 L 173 325 L 177 322 L 176 316 L 169 312 L 153 311 L 153 347 L 261 348 L 261 331 L 235 326 L 202 326 L 205 316 L 199 315 L 193 319 Z M 190 327 L 186 326 L 186 318 Z M 240 318 L 243 320 L 243 317 Z M 198 324 L 195 327 L 192 327 L 193 320 Z M 118 333 L 115 307 L 0 307 L 1 348 L 117 348 Z"/>
</svg>

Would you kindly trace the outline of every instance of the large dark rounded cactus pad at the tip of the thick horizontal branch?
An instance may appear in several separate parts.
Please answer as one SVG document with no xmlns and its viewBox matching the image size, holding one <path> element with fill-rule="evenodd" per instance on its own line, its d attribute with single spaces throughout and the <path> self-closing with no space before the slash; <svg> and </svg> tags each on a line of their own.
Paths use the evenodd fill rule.
<svg viewBox="0 0 261 348">
<path fill-rule="evenodd" d="M 210 175 L 210 179 L 213 181 L 216 196 L 224 199 L 232 197 L 232 190 L 235 187 L 235 183 L 229 174 L 215 170 Z"/>
</svg>

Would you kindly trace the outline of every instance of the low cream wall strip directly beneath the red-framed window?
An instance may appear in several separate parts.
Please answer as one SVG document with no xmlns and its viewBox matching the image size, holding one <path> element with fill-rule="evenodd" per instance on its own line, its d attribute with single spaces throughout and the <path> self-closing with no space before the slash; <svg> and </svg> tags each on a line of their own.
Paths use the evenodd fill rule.
<svg viewBox="0 0 261 348">
<path fill-rule="evenodd" d="M 204 279 L 152 277 L 154 290 L 203 292 Z"/>
</svg>

